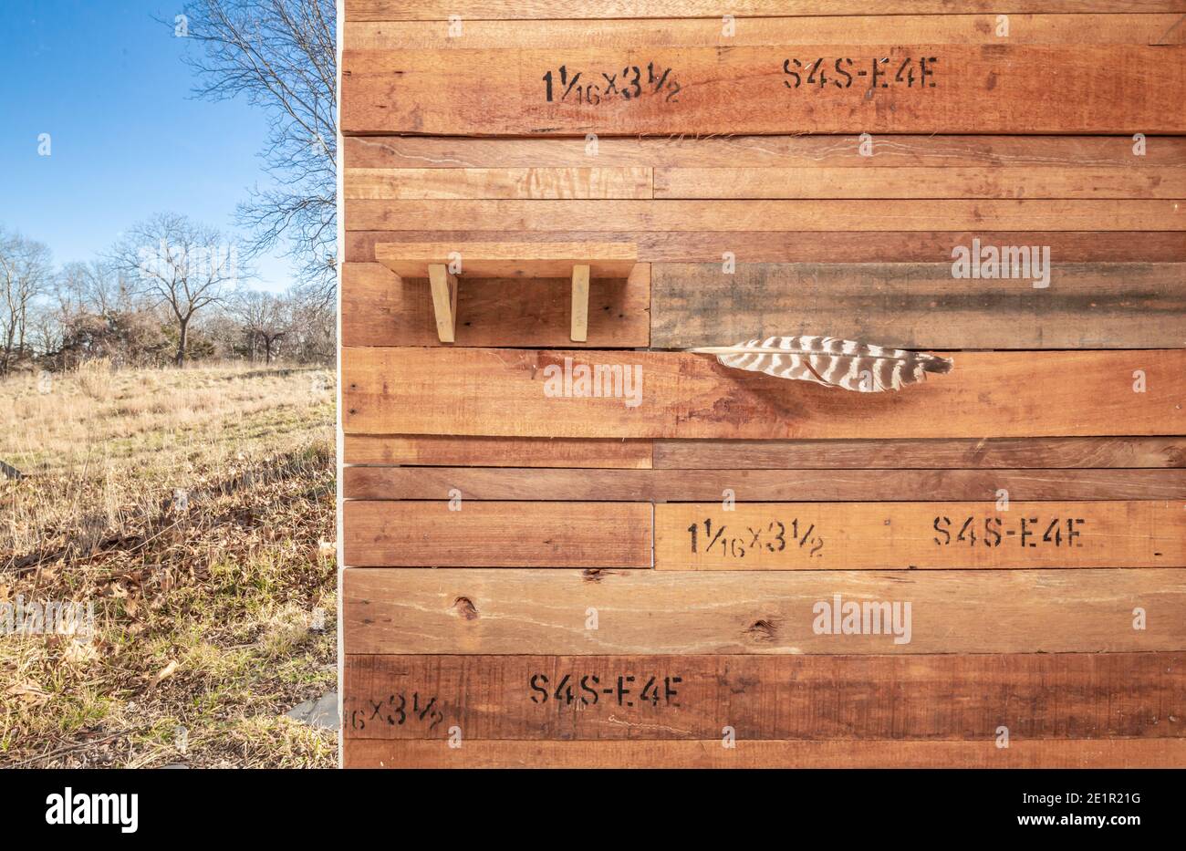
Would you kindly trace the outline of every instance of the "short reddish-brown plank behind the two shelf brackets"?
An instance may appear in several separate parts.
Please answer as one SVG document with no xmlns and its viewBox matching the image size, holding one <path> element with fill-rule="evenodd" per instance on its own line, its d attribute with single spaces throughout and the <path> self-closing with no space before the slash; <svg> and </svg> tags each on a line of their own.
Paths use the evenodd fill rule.
<svg viewBox="0 0 1186 851">
<path fill-rule="evenodd" d="M 591 346 L 650 343 L 651 267 L 629 279 L 589 282 L 588 339 L 570 337 L 572 277 L 474 279 L 458 287 L 455 346 Z M 401 279 L 380 263 L 342 267 L 345 346 L 440 346 L 428 281 Z"/>
</svg>

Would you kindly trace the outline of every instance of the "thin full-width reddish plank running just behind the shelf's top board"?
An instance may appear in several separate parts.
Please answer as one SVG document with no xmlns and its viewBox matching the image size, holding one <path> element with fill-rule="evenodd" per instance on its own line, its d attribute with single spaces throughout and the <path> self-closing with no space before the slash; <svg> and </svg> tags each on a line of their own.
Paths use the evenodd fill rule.
<svg viewBox="0 0 1186 851">
<path fill-rule="evenodd" d="M 769 228 L 764 225 L 764 228 Z M 472 239 L 621 239 L 638 244 L 648 263 L 720 263 L 728 252 L 740 263 L 950 263 L 957 245 L 1050 245 L 1059 263 L 1181 263 L 1181 231 L 346 231 L 347 262 L 375 260 L 380 242 Z"/>
</svg>

